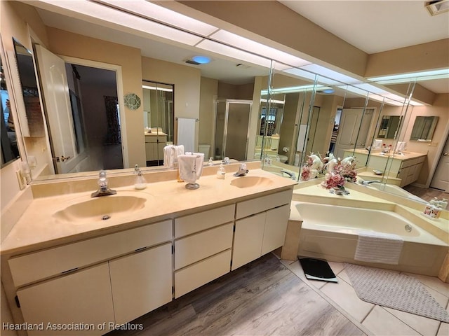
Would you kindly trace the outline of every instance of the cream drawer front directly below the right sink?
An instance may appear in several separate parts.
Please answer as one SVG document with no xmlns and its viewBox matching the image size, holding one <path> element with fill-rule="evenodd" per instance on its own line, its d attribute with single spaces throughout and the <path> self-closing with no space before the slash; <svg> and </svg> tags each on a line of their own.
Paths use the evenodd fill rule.
<svg viewBox="0 0 449 336">
<path fill-rule="evenodd" d="M 279 207 L 283 204 L 290 204 L 293 190 L 281 191 L 272 195 L 257 197 L 254 200 L 248 200 L 237 203 L 236 219 L 258 214 L 262 211 Z"/>
</svg>

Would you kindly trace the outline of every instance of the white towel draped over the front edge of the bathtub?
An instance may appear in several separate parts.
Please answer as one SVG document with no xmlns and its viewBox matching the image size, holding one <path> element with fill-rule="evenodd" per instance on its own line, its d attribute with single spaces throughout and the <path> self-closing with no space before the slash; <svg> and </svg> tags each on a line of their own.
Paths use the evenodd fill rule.
<svg viewBox="0 0 449 336">
<path fill-rule="evenodd" d="M 402 237 L 398 235 L 382 232 L 360 232 L 354 259 L 398 265 L 403 242 Z"/>
</svg>

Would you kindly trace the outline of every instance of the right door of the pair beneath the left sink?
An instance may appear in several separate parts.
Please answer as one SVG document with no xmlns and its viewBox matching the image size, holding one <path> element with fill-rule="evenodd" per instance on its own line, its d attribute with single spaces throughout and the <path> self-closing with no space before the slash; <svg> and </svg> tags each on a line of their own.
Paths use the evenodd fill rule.
<svg viewBox="0 0 449 336">
<path fill-rule="evenodd" d="M 172 300 L 171 246 L 109 261 L 116 323 L 132 321 Z"/>
</svg>

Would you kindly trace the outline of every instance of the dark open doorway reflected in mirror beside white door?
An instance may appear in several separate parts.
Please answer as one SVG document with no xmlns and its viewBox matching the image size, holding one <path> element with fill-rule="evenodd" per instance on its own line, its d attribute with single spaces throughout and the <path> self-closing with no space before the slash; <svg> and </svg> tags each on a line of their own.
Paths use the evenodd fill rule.
<svg viewBox="0 0 449 336">
<path fill-rule="evenodd" d="M 79 172 L 123 168 L 116 71 L 66 62 Z"/>
</svg>

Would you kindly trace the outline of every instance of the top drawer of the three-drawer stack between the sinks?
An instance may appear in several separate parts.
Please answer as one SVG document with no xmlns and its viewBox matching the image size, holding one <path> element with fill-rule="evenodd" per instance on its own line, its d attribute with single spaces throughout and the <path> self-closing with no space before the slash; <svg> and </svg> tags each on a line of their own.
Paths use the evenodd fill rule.
<svg viewBox="0 0 449 336">
<path fill-rule="evenodd" d="M 192 235 L 214 226 L 234 221 L 235 205 L 212 209 L 180 218 L 175 218 L 175 238 Z"/>
</svg>

